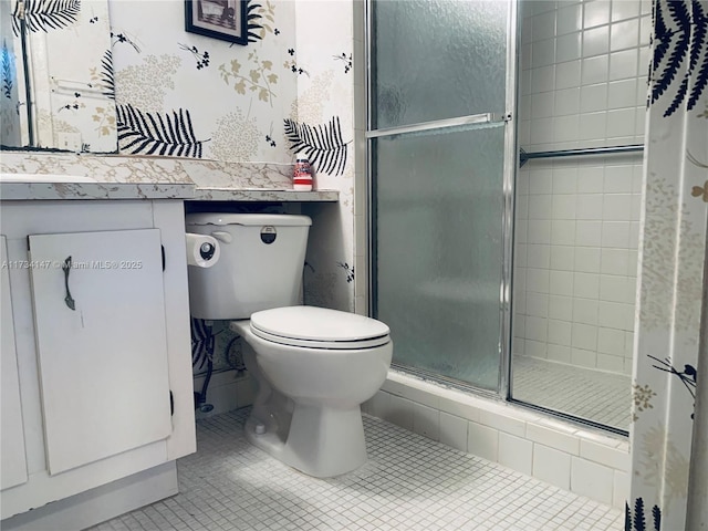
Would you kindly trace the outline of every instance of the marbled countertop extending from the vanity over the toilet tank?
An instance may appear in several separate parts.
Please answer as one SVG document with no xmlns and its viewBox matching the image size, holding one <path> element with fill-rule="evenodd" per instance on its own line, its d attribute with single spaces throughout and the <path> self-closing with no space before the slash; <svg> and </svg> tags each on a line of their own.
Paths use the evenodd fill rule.
<svg viewBox="0 0 708 531">
<path fill-rule="evenodd" d="M 183 199 L 192 201 L 337 201 L 337 190 L 197 187 L 194 183 L 0 183 L 0 200 Z"/>
</svg>

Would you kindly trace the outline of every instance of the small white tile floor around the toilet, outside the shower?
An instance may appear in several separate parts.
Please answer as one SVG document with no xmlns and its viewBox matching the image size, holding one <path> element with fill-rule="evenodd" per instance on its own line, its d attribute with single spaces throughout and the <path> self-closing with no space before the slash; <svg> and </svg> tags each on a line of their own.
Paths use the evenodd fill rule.
<svg viewBox="0 0 708 531">
<path fill-rule="evenodd" d="M 620 530 L 622 513 L 364 416 L 369 460 L 331 479 L 251 446 L 248 409 L 200 420 L 180 493 L 92 531 Z"/>
</svg>

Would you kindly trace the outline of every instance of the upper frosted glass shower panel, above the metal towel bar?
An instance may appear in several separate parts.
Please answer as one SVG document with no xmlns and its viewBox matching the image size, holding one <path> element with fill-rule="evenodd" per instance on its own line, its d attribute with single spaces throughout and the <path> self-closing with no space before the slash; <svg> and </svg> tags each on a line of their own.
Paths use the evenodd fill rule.
<svg viewBox="0 0 708 531">
<path fill-rule="evenodd" d="M 372 4 L 373 129 L 504 112 L 510 2 Z"/>
</svg>

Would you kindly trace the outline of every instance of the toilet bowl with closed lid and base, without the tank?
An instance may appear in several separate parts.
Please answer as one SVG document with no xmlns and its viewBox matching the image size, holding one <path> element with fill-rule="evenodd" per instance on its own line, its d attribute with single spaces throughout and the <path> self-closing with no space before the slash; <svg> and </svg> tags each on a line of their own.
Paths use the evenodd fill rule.
<svg viewBox="0 0 708 531">
<path fill-rule="evenodd" d="M 360 406 L 386 379 L 393 353 L 387 327 L 346 312 L 294 306 L 254 313 L 231 329 L 252 350 L 244 361 L 258 383 L 247 438 L 319 478 L 362 466 Z"/>
</svg>

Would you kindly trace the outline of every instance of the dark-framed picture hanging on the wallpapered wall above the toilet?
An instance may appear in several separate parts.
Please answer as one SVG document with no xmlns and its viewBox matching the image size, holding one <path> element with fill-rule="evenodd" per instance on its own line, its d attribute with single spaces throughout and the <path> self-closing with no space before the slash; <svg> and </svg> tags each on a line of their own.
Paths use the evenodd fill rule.
<svg viewBox="0 0 708 531">
<path fill-rule="evenodd" d="M 222 41 L 248 44 L 248 0 L 185 0 L 185 30 Z"/>
</svg>

